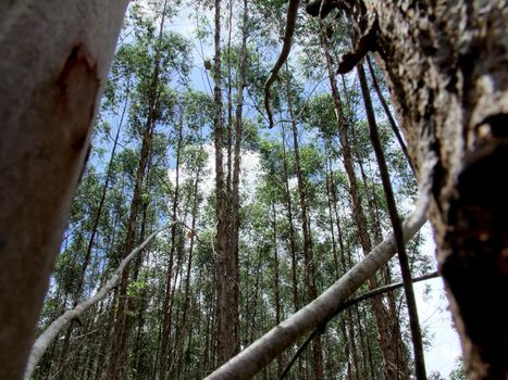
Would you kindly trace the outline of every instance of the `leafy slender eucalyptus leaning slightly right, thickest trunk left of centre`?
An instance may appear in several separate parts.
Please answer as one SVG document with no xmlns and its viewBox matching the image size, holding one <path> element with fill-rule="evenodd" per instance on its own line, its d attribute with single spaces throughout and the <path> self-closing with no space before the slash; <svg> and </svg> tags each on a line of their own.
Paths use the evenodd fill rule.
<svg viewBox="0 0 508 380">
<path fill-rule="evenodd" d="M 185 76 L 188 72 L 188 47 L 187 42 L 179 36 L 164 30 L 166 16 L 171 12 L 166 1 L 160 4 L 156 17 L 160 17 L 159 29 L 156 31 L 153 21 L 149 15 L 134 14 L 136 40 L 124 49 L 134 49 L 141 58 L 138 61 L 136 72 L 136 92 L 133 94 L 131 111 L 131 125 L 141 140 L 139 162 L 135 175 L 135 183 L 132 195 L 131 211 L 125 235 L 124 255 L 132 251 L 136 239 L 137 221 L 143 211 L 144 180 L 150 162 L 153 160 L 152 139 L 157 125 L 164 125 L 172 115 L 174 94 L 169 85 L 178 75 Z M 141 64 L 143 63 L 143 64 Z M 173 81 L 174 83 L 174 81 Z M 122 257 L 122 255 L 121 255 Z M 140 261 L 133 268 L 134 278 L 137 277 Z M 116 379 L 125 376 L 125 360 L 127 352 L 128 335 L 132 329 L 132 318 L 128 318 L 129 299 L 127 295 L 129 270 L 124 271 L 116 294 L 115 322 L 113 329 L 113 341 L 110 362 L 108 365 L 108 377 Z M 127 366 L 128 367 L 128 366 Z"/>
</svg>

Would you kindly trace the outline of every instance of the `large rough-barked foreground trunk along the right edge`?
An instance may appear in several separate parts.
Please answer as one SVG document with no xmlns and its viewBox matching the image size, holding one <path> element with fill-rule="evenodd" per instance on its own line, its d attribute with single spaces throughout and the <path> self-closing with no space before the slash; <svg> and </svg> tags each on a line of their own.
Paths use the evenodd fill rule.
<svg viewBox="0 0 508 380">
<path fill-rule="evenodd" d="M 471 379 L 508 376 L 508 7 L 504 0 L 326 0 L 377 20 L 387 74 Z"/>
</svg>

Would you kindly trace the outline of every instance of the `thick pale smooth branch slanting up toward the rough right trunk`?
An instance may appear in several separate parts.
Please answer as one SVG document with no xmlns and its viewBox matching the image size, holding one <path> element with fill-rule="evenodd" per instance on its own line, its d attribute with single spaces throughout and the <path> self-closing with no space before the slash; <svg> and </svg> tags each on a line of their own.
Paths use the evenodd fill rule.
<svg viewBox="0 0 508 380">
<path fill-rule="evenodd" d="M 426 206 L 420 205 L 404 224 L 402 230 L 406 241 L 417 233 L 425 223 L 425 210 Z M 207 379 L 240 380 L 252 378 L 299 337 L 329 320 L 363 282 L 374 276 L 388 262 L 395 252 L 395 239 L 389 236 L 323 294 L 267 332 L 213 371 Z"/>
</svg>

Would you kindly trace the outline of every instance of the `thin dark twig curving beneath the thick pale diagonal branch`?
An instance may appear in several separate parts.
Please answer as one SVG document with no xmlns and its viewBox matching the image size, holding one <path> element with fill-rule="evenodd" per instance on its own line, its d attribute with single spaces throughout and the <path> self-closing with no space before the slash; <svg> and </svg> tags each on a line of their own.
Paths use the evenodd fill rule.
<svg viewBox="0 0 508 380">
<path fill-rule="evenodd" d="M 437 271 L 433 271 L 432 274 L 426 274 L 426 275 L 413 278 L 412 282 L 414 283 L 414 282 L 419 282 L 419 281 L 424 281 L 424 280 L 429 280 L 431 278 L 436 278 L 438 276 L 439 276 L 439 274 Z M 349 300 L 349 301 L 345 302 L 344 304 L 342 304 L 337 308 L 337 311 L 332 316 L 332 318 L 337 316 L 337 314 L 344 312 L 346 308 L 349 308 L 349 307 L 351 307 L 354 305 L 357 305 L 362 301 L 365 301 L 368 299 L 372 299 L 373 296 L 377 296 L 377 295 L 391 292 L 391 291 L 393 291 L 395 289 L 398 289 L 398 288 L 401 288 L 401 287 L 404 287 L 404 282 L 391 283 L 391 284 L 374 289 L 374 290 L 372 290 L 370 292 L 367 292 L 365 294 L 362 294 L 362 295 L 360 295 L 360 296 L 358 296 L 356 299 Z M 329 320 L 323 322 L 323 325 L 319 326 L 314 331 L 312 331 L 312 333 L 309 335 L 309 338 L 307 338 L 306 341 L 298 347 L 297 352 L 295 353 L 295 355 L 293 355 L 292 359 L 287 363 L 287 365 L 284 368 L 283 372 L 278 377 L 278 380 L 283 380 L 286 377 L 286 375 L 289 372 L 293 365 L 295 364 L 296 359 L 301 355 L 301 353 L 305 351 L 305 349 L 307 349 L 309 343 L 312 342 L 312 339 L 314 339 L 318 334 L 324 332 L 326 324 L 332 318 L 330 318 Z"/>
</svg>

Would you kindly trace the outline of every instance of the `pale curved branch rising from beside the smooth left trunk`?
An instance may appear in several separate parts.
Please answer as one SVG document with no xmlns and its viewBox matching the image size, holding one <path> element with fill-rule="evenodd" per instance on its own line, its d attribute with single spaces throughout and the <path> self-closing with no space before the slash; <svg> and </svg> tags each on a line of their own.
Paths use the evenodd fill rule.
<svg viewBox="0 0 508 380">
<path fill-rule="evenodd" d="M 39 363 L 40 358 L 45 354 L 46 350 L 48 350 L 51 342 L 54 341 L 57 335 L 63 329 L 63 327 L 69 324 L 73 319 L 77 319 L 84 312 L 90 308 L 97 302 L 103 300 L 106 295 L 116 287 L 116 283 L 122 276 L 125 267 L 128 263 L 147 246 L 147 244 L 162 230 L 170 228 L 171 226 L 163 227 L 153 233 L 151 233 L 141 244 L 135 248 L 121 263 L 120 266 L 114 271 L 111 279 L 94 295 L 90 296 L 88 300 L 85 300 L 76 307 L 66 311 L 62 314 L 59 318 L 57 318 L 46 330 L 42 332 L 39 338 L 35 341 L 34 345 L 32 346 L 30 355 L 28 356 L 28 363 L 25 369 L 25 380 L 29 380 L 32 373 L 34 372 L 37 364 Z"/>
</svg>

